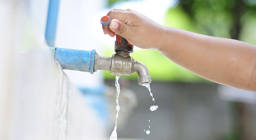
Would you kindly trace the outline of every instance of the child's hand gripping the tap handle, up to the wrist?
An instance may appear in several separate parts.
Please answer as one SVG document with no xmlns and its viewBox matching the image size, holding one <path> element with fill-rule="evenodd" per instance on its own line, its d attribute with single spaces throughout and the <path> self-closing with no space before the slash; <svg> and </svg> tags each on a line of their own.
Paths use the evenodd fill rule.
<svg viewBox="0 0 256 140">
<path fill-rule="evenodd" d="M 120 35 L 132 45 L 140 48 L 157 49 L 164 40 L 166 27 L 131 9 L 114 9 L 109 11 L 109 27 L 104 27 L 104 34 L 114 37 Z"/>
</svg>

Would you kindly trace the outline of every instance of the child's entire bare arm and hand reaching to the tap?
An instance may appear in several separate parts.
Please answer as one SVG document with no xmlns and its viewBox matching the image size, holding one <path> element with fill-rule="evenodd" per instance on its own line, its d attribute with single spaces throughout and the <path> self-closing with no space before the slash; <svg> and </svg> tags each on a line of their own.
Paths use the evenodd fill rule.
<svg viewBox="0 0 256 140">
<path fill-rule="evenodd" d="M 107 14 L 104 34 L 116 34 L 145 49 L 157 49 L 174 63 L 216 83 L 256 92 L 256 46 L 242 41 L 164 27 L 131 9 Z"/>
</svg>

